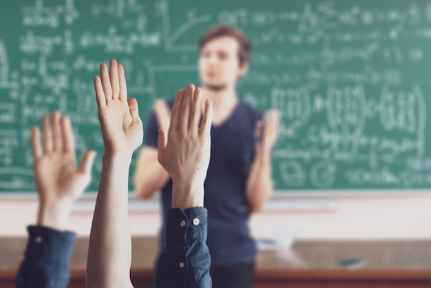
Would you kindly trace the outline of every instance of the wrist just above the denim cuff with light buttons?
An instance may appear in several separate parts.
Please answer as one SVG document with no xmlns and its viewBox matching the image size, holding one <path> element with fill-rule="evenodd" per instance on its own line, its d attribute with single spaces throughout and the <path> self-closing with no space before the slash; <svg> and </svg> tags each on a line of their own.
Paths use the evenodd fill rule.
<svg viewBox="0 0 431 288">
<path fill-rule="evenodd" d="M 172 184 L 172 208 L 188 209 L 204 206 L 204 184 L 175 181 Z"/>
</svg>

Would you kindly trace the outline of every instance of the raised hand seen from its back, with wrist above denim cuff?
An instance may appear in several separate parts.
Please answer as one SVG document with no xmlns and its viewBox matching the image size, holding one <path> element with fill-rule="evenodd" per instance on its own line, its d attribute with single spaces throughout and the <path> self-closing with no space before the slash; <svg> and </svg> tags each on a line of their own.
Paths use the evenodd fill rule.
<svg viewBox="0 0 431 288">
<path fill-rule="evenodd" d="M 173 180 L 172 207 L 203 206 L 203 185 L 211 152 L 212 106 L 207 100 L 201 116 L 202 90 L 187 85 L 178 90 L 169 130 L 159 130 L 158 161 Z"/>
</svg>

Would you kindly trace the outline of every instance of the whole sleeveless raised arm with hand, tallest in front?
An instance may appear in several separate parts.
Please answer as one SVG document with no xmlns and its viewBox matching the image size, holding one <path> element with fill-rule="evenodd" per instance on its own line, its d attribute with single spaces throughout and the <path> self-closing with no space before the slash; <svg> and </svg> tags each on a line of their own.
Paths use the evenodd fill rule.
<svg viewBox="0 0 431 288">
<path fill-rule="evenodd" d="M 127 100 L 123 66 L 112 60 L 108 75 L 102 64 L 94 88 L 105 153 L 90 233 L 86 287 L 132 287 L 127 183 L 132 153 L 143 140 L 143 124 L 136 99 Z"/>
</svg>

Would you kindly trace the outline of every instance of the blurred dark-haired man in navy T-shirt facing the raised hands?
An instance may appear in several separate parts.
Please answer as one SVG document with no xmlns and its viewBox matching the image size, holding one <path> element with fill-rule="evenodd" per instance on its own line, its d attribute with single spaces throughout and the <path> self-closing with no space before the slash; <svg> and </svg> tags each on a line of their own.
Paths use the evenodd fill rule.
<svg viewBox="0 0 431 288">
<path fill-rule="evenodd" d="M 251 288 L 256 248 L 248 220 L 273 193 L 271 150 L 279 114 L 272 111 L 263 121 L 262 112 L 242 103 L 236 94 L 251 52 L 251 43 L 240 30 L 227 25 L 209 29 L 200 40 L 199 51 L 202 94 L 213 103 L 211 161 L 204 183 L 211 278 L 214 288 Z M 159 128 L 169 127 L 172 105 L 173 101 L 156 101 L 134 173 L 140 198 L 150 198 L 160 190 L 162 223 L 171 207 L 172 181 L 157 161 L 157 138 Z M 164 245 L 162 227 L 160 248 Z"/>
</svg>

